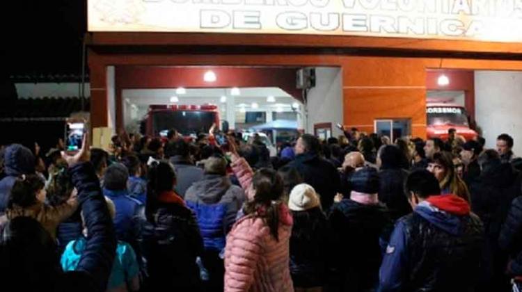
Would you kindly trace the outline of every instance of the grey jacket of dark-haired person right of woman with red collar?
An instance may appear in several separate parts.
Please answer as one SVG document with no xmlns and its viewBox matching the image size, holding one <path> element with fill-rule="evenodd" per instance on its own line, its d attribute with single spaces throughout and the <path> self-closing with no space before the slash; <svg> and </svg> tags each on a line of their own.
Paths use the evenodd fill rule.
<svg viewBox="0 0 522 292">
<path fill-rule="evenodd" d="M 172 156 L 169 161 L 171 161 L 176 172 L 176 193 L 184 197 L 190 186 L 203 178 L 203 169 L 193 165 L 188 159 L 180 155 Z"/>
</svg>

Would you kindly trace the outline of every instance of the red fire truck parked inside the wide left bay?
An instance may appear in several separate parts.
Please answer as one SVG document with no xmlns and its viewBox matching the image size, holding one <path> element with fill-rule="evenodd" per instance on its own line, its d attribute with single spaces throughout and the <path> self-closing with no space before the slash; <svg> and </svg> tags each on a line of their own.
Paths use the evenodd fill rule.
<svg viewBox="0 0 522 292">
<path fill-rule="evenodd" d="M 141 133 L 148 136 L 166 137 L 170 129 L 183 136 L 208 133 L 212 124 L 219 124 L 218 107 L 212 104 L 195 105 L 151 105 L 141 121 Z"/>
</svg>

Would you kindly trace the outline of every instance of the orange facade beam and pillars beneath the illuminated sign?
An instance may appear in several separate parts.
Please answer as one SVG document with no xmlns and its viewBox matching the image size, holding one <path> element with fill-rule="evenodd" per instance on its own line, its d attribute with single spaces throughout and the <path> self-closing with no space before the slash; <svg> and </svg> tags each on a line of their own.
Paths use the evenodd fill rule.
<svg viewBox="0 0 522 292">
<path fill-rule="evenodd" d="M 379 48 L 379 39 L 382 51 L 375 49 Z M 376 119 L 407 118 L 411 119 L 412 135 L 425 138 L 427 70 L 522 70 L 522 61 L 515 60 L 522 46 L 471 43 L 474 45 L 468 41 L 313 35 L 94 33 L 89 49 L 91 120 L 93 127 L 108 124 L 106 66 L 109 65 L 334 66 L 341 67 L 343 72 L 345 126 L 372 132 Z M 214 46 L 209 49 L 205 44 Z M 243 47 L 238 49 L 232 44 Z M 365 56 L 361 56 L 359 49 L 349 49 L 354 46 L 372 50 L 362 51 Z M 128 47 L 138 49 L 132 51 Z M 387 51 L 390 47 L 409 50 L 391 54 Z M 453 54 L 458 50 L 470 55 Z M 446 57 L 445 51 L 453 53 Z M 411 57 L 419 52 L 426 56 Z M 473 52 L 489 55 L 475 56 Z"/>
</svg>

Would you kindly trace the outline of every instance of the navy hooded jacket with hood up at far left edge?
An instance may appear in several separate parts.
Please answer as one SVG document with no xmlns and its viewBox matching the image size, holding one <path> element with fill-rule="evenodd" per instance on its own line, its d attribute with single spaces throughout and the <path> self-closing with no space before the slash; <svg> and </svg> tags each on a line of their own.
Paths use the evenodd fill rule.
<svg viewBox="0 0 522 292">
<path fill-rule="evenodd" d="M 13 144 L 3 154 L 3 167 L 6 177 L 0 181 L 0 214 L 6 211 L 11 188 L 19 175 L 34 173 L 35 158 L 27 147 Z"/>
</svg>

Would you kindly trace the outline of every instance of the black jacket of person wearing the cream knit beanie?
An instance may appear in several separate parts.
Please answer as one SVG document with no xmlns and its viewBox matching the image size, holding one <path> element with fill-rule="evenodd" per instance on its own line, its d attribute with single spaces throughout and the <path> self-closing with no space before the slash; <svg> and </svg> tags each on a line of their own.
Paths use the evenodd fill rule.
<svg viewBox="0 0 522 292">
<path fill-rule="evenodd" d="M 290 237 L 290 274 L 294 287 L 323 286 L 333 258 L 333 233 L 319 207 L 292 211 L 294 225 Z"/>
</svg>

